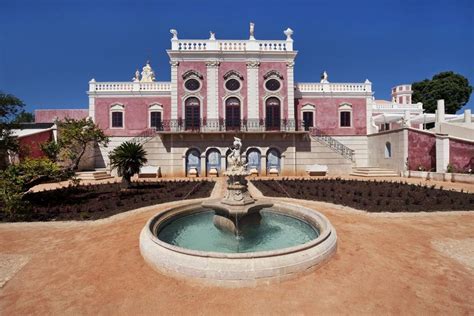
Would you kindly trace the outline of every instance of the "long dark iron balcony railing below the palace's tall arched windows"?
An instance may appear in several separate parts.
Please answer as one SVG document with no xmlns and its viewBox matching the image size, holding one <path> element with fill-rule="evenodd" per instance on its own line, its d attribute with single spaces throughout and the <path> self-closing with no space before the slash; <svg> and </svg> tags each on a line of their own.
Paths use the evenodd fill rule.
<svg viewBox="0 0 474 316">
<path fill-rule="evenodd" d="M 157 133 L 259 133 L 259 132 L 294 132 L 295 120 L 266 121 L 265 119 L 225 120 L 164 120 L 155 127 Z"/>
</svg>

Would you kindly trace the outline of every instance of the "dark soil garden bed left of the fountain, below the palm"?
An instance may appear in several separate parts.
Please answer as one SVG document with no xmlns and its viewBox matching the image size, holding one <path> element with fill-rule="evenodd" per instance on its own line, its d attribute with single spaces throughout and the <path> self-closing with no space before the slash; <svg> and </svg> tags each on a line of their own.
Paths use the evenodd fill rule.
<svg viewBox="0 0 474 316">
<path fill-rule="evenodd" d="M 95 220 L 136 208 L 208 197 L 212 181 L 136 182 L 121 190 L 119 183 L 81 185 L 27 193 L 28 209 L 13 218 L 0 212 L 0 221 Z"/>
</svg>

